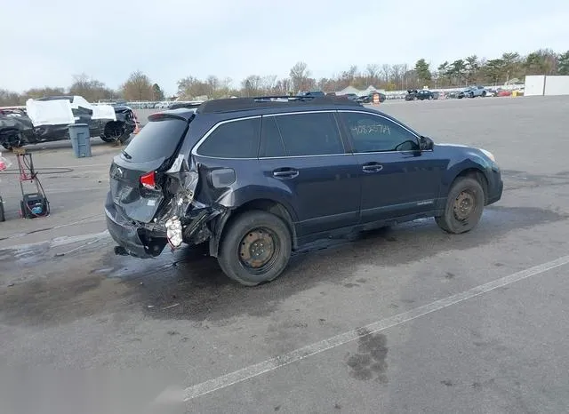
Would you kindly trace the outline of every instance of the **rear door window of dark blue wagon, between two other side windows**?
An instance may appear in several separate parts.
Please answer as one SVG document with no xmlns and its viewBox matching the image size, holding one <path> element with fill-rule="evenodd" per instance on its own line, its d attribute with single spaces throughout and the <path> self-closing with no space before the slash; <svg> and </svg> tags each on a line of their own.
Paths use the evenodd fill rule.
<svg viewBox="0 0 569 414">
<path fill-rule="evenodd" d="M 343 154 L 344 147 L 330 112 L 275 116 L 288 156 Z"/>
</svg>

